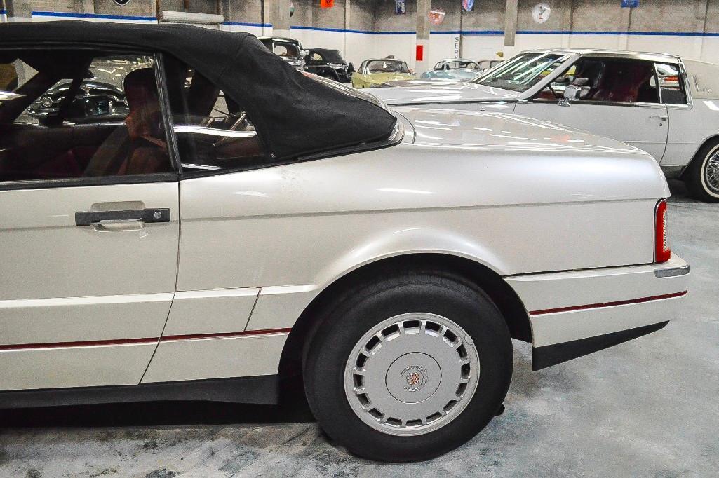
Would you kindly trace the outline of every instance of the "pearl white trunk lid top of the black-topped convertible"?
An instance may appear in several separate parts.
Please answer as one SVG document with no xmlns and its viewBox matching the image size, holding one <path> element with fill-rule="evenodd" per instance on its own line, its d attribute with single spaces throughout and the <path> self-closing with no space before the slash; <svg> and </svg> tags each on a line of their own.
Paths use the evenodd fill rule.
<svg viewBox="0 0 719 478">
<path fill-rule="evenodd" d="M 539 155 L 651 156 L 629 144 L 515 114 L 393 107 L 413 129 L 413 144 Z M 654 161 L 654 160 L 652 160 Z"/>
</svg>

